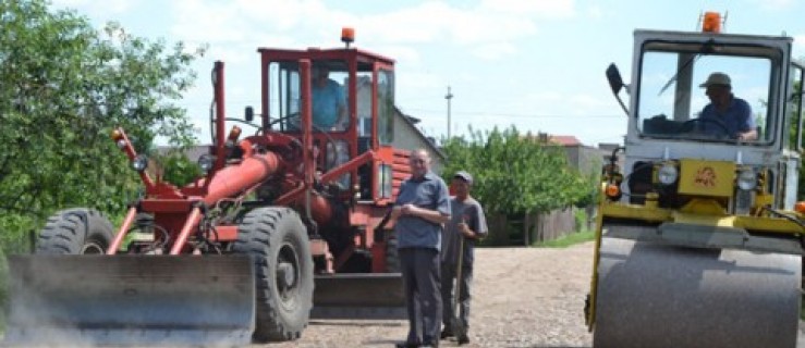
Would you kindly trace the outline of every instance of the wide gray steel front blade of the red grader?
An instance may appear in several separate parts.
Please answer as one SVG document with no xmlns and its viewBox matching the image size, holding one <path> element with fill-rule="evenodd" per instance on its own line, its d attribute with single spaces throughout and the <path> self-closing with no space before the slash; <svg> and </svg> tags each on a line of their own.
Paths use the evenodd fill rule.
<svg viewBox="0 0 805 348">
<path fill-rule="evenodd" d="M 242 256 L 12 256 L 8 346 L 236 346 L 251 341 Z"/>
</svg>

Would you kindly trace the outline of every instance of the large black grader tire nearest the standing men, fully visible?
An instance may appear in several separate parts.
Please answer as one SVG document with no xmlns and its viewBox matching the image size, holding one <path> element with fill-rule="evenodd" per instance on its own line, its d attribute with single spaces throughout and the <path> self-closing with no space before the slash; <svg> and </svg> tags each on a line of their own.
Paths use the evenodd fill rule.
<svg viewBox="0 0 805 348">
<path fill-rule="evenodd" d="M 255 263 L 257 343 L 297 339 L 313 308 L 313 257 L 307 229 L 290 208 L 259 208 L 239 226 L 235 253 Z"/>
</svg>

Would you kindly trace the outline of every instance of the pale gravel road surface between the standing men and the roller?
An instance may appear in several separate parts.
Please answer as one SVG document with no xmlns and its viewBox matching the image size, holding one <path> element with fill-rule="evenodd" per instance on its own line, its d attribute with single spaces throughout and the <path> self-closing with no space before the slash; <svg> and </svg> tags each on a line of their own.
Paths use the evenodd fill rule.
<svg viewBox="0 0 805 348">
<path fill-rule="evenodd" d="M 476 249 L 471 343 L 462 347 L 589 347 L 583 308 L 591 262 L 591 243 Z M 388 348 L 407 328 L 406 321 L 314 321 L 296 341 L 253 347 Z"/>
</svg>

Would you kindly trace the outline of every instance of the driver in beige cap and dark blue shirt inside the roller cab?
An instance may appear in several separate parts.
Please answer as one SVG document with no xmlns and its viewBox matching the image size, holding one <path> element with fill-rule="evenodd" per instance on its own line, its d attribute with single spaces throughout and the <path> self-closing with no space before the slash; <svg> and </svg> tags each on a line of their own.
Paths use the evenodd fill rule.
<svg viewBox="0 0 805 348">
<path fill-rule="evenodd" d="M 702 130 L 712 135 L 725 134 L 739 140 L 757 139 L 752 107 L 732 94 L 729 75 L 712 73 L 699 87 L 706 88 L 705 94 L 710 98 L 710 103 L 699 114 Z"/>
</svg>

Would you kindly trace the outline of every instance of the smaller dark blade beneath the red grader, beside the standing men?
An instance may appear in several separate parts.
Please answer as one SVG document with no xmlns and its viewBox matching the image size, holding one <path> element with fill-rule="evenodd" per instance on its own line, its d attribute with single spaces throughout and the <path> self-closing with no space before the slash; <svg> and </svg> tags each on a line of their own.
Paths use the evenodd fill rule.
<svg viewBox="0 0 805 348">
<path fill-rule="evenodd" d="M 315 282 L 312 318 L 407 318 L 400 273 L 319 275 Z"/>
</svg>

